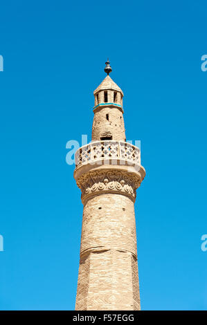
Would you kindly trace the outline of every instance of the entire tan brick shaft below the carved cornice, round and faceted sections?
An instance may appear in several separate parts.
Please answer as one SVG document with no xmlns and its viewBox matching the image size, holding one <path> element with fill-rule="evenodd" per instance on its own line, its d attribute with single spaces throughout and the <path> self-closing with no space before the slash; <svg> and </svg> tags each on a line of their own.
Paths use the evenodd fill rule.
<svg viewBox="0 0 207 325">
<path fill-rule="evenodd" d="M 132 200 L 120 194 L 102 194 L 87 201 L 75 308 L 139 309 L 136 256 Z"/>
</svg>

